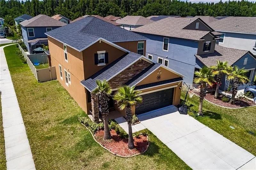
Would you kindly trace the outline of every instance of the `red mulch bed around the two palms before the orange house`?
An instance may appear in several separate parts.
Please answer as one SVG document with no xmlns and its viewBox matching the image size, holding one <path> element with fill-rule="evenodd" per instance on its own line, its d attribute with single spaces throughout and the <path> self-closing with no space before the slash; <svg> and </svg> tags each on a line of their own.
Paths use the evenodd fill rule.
<svg viewBox="0 0 256 170">
<path fill-rule="evenodd" d="M 145 152 L 148 148 L 148 138 L 147 136 L 140 135 L 139 137 L 134 137 L 134 149 L 128 148 L 128 139 L 121 138 L 120 135 L 116 134 L 115 130 L 111 130 L 111 139 L 103 139 L 104 130 L 99 130 L 94 134 L 95 139 L 109 151 L 114 152 L 119 156 L 133 156 L 138 153 Z"/>
</svg>

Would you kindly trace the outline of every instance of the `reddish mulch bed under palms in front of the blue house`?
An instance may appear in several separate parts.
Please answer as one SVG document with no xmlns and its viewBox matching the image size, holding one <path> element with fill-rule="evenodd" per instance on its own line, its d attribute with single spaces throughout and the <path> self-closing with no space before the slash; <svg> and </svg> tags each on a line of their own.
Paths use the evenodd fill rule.
<svg viewBox="0 0 256 170">
<path fill-rule="evenodd" d="M 214 95 L 207 93 L 205 96 L 205 99 L 216 104 L 219 106 L 224 106 L 224 107 L 230 107 L 230 108 L 238 108 L 238 107 L 245 107 L 245 106 L 255 106 L 256 104 L 253 103 L 253 101 L 247 100 L 238 100 L 236 99 L 235 104 L 230 104 L 228 102 L 223 102 L 221 100 L 221 98 L 223 97 L 223 95 L 220 95 L 217 99 L 214 99 Z"/>
</svg>

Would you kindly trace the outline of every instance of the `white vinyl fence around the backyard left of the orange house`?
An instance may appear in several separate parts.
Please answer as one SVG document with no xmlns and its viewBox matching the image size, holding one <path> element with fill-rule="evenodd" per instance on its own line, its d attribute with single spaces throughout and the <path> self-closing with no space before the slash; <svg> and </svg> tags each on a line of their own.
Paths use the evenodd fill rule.
<svg viewBox="0 0 256 170">
<path fill-rule="evenodd" d="M 32 71 L 32 73 L 34 74 L 38 82 L 49 81 L 57 78 L 55 66 L 44 68 L 44 69 L 36 69 L 33 64 L 33 63 L 48 63 L 48 57 L 45 53 L 36 54 L 36 55 L 26 54 L 26 52 L 20 47 L 19 44 L 18 46 L 22 55 L 27 60 L 30 70 Z M 33 61 L 33 63 L 31 60 Z"/>
</svg>

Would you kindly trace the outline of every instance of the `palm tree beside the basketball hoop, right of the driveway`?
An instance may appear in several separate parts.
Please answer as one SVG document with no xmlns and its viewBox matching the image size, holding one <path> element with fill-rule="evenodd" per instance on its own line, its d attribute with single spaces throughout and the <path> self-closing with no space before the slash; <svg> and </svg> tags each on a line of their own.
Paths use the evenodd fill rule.
<svg viewBox="0 0 256 170">
<path fill-rule="evenodd" d="M 208 67 L 203 67 L 202 69 L 200 69 L 199 71 L 195 71 L 195 76 L 196 78 L 194 78 L 194 82 L 196 84 L 200 84 L 200 92 L 199 92 L 199 109 L 198 109 L 198 115 L 199 116 L 203 116 L 203 100 L 205 97 L 205 93 L 206 93 L 206 85 L 212 85 L 212 81 L 213 81 L 213 74 L 212 74 L 212 70 L 209 69 Z"/>
</svg>

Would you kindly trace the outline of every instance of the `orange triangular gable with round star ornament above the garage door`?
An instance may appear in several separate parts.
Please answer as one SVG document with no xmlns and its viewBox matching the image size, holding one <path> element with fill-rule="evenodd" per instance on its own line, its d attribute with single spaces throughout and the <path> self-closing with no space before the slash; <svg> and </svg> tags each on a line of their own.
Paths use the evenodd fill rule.
<svg viewBox="0 0 256 170">
<path fill-rule="evenodd" d="M 170 79 L 179 78 L 179 77 L 181 76 L 170 70 L 167 70 L 164 66 L 161 65 L 159 68 L 151 72 L 146 78 L 141 80 L 136 86 L 146 85 L 149 83 L 156 83 L 156 82 L 170 80 Z"/>
</svg>

